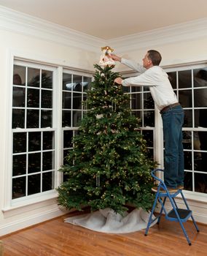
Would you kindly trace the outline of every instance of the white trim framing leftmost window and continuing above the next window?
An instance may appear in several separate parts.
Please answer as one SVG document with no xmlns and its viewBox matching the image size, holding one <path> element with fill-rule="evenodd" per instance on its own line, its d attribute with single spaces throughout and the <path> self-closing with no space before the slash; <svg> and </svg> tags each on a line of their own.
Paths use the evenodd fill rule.
<svg viewBox="0 0 207 256">
<path fill-rule="evenodd" d="M 58 192 L 52 189 L 47 192 L 39 194 L 29 195 L 27 197 L 20 197 L 12 200 L 12 75 L 14 63 L 18 61 L 23 63 L 29 63 L 29 66 L 47 67 L 53 71 L 53 83 L 57 86 L 53 88 L 53 130 L 55 130 L 55 188 L 62 182 L 62 173 L 58 172 L 58 169 L 63 164 L 63 127 L 62 127 L 62 83 L 63 72 L 70 72 L 74 75 L 86 75 L 93 77 L 93 73 L 85 69 L 77 69 L 72 67 L 66 67 L 62 60 L 45 59 L 44 56 L 37 56 L 34 53 L 28 53 L 26 51 L 19 51 L 15 49 L 8 49 L 8 61 L 7 61 L 7 143 L 5 143 L 5 161 L 4 174 L 4 203 L 1 211 L 4 213 L 14 213 L 24 207 L 35 205 L 47 200 L 55 199 L 58 197 Z M 15 62 L 14 62 L 15 61 Z M 56 125 L 55 125 L 56 124 Z M 57 125 L 60 124 L 60 125 Z"/>
</svg>

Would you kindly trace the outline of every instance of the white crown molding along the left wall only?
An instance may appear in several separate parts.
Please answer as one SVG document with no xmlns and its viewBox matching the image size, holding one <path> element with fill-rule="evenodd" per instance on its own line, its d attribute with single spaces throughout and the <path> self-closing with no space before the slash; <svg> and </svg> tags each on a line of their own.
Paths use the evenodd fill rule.
<svg viewBox="0 0 207 256">
<path fill-rule="evenodd" d="M 47 39 L 61 45 L 100 52 L 106 41 L 0 6 L 0 29 Z"/>
</svg>

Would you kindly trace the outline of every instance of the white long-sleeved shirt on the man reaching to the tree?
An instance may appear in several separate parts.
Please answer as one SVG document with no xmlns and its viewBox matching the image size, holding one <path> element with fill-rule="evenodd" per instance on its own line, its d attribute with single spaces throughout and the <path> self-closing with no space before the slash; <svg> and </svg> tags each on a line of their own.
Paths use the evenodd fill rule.
<svg viewBox="0 0 207 256">
<path fill-rule="evenodd" d="M 121 63 L 141 73 L 141 75 L 134 78 L 122 80 L 122 86 L 149 86 L 152 98 L 159 110 L 178 102 L 168 80 L 168 74 L 161 67 L 153 66 L 145 69 L 140 64 L 128 59 L 121 59 Z"/>
</svg>

